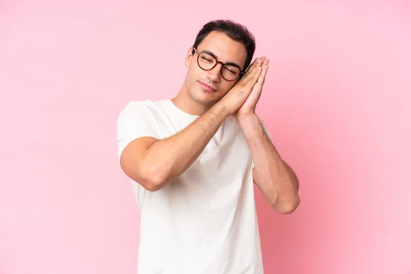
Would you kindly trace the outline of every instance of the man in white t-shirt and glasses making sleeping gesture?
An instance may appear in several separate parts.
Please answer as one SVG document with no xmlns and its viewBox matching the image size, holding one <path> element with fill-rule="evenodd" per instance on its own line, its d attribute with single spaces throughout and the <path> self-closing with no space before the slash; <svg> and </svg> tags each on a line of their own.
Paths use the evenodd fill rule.
<svg viewBox="0 0 411 274">
<path fill-rule="evenodd" d="M 138 274 L 263 273 L 253 183 L 282 214 L 299 205 L 297 177 L 256 114 L 269 60 L 249 66 L 255 48 L 244 26 L 207 23 L 177 96 L 119 115 L 141 212 Z"/>
</svg>

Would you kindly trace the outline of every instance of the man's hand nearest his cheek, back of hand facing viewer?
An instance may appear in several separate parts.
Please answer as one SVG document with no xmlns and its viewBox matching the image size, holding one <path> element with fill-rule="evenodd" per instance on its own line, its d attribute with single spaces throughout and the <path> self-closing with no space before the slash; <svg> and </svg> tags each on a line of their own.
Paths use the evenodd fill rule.
<svg viewBox="0 0 411 274">
<path fill-rule="evenodd" d="M 223 105 L 227 110 L 227 115 L 234 114 L 238 108 L 247 100 L 253 86 L 256 84 L 262 72 L 262 61 L 258 58 L 251 64 L 245 75 L 233 86 L 226 95 L 219 101 L 219 105 Z"/>
</svg>

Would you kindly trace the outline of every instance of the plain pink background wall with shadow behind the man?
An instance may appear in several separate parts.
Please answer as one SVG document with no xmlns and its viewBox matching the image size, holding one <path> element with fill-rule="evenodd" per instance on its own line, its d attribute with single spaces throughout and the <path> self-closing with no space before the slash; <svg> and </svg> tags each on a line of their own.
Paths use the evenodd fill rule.
<svg viewBox="0 0 411 274">
<path fill-rule="evenodd" d="M 266 273 L 411 273 L 409 1 L 1 1 L 0 273 L 136 273 L 131 100 L 176 95 L 200 27 L 271 59 L 258 113 L 301 205 L 257 192 Z"/>
</svg>

